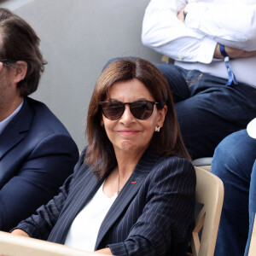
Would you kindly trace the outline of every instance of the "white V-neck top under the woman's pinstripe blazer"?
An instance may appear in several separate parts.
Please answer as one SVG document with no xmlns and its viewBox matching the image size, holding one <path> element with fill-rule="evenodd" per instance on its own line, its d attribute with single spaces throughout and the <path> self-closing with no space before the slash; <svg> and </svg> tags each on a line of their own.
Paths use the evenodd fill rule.
<svg viewBox="0 0 256 256">
<path fill-rule="evenodd" d="M 108 198 L 103 192 L 102 183 L 96 195 L 73 220 L 65 245 L 93 252 L 102 221 L 116 197 L 117 193 Z"/>
</svg>

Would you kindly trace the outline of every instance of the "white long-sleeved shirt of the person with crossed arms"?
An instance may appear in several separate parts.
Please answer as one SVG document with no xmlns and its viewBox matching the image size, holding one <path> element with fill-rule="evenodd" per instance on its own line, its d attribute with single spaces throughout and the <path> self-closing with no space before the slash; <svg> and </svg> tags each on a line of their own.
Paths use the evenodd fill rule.
<svg viewBox="0 0 256 256">
<path fill-rule="evenodd" d="M 188 5 L 185 23 L 177 13 Z M 228 79 L 224 61 L 213 59 L 217 43 L 256 49 L 256 0 L 151 0 L 143 19 L 143 44 L 197 69 Z M 233 59 L 230 67 L 241 83 L 256 87 L 256 56 Z"/>
</svg>

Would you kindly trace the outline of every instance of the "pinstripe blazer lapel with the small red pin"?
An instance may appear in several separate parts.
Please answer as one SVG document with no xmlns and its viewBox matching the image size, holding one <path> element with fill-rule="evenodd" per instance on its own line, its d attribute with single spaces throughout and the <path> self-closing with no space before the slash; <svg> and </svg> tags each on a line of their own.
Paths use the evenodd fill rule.
<svg viewBox="0 0 256 256">
<path fill-rule="evenodd" d="M 107 234 L 111 226 L 117 221 L 121 213 L 125 211 L 127 205 L 137 195 L 137 191 L 140 189 L 145 177 L 148 176 L 148 173 L 152 170 L 156 160 L 159 158 L 158 155 L 151 154 L 148 151 L 143 154 L 143 157 L 139 160 L 132 172 L 131 177 L 125 183 L 124 188 L 120 191 L 117 199 L 113 202 L 112 207 L 104 218 L 96 240 L 95 250 L 100 245 L 103 237 Z"/>
</svg>

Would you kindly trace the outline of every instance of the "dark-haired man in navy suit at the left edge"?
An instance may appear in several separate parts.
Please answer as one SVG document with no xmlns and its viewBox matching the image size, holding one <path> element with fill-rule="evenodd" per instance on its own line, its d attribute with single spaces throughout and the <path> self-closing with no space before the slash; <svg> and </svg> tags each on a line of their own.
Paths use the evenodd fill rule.
<svg viewBox="0 0 256 256">
<path fill-rule="evenodd" d="M 47 203 L 73 172 L 79 151 L 42 102 L 46 63 L 25 20 L 0 9 L 0 230 L 10 230 Z"/>
</svg>

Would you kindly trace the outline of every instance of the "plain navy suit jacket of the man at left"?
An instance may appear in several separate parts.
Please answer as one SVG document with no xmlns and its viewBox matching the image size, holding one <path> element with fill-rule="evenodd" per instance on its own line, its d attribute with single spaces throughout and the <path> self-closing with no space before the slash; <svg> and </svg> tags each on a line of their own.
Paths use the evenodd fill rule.
<svg viewBox="0 0 256 256">
<path fill-rule="evenodd" d="M 0 134 L 0 230 L 8 231 L 57 194 L 79 151 L 43 103 L 25 98 Z"/>
</svg>

